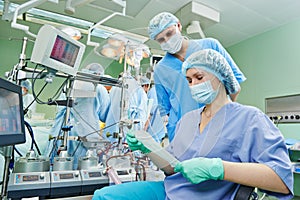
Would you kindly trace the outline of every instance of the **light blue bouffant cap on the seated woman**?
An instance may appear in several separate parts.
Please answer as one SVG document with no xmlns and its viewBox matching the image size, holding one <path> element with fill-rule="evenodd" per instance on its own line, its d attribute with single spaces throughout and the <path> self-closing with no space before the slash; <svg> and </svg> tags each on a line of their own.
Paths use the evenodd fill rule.
<svg viewBox="0 0 300 200">
<path fill-rule="evenodd" d="M 200 68 L 215 75 L 223 83 L 228 94 L 235 94 L 240 89 L 230 65 L 215 50 L 204 49 L 190 55 L 182 64 L 182 72 L 186 74 L 190 68 Z"/>
</svg>

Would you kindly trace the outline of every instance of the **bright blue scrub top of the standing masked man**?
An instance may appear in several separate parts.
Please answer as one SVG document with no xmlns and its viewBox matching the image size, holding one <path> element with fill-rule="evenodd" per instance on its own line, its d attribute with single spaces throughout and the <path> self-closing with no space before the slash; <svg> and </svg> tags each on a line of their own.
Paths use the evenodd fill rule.
<svg viewBox="0 0 300 200">
<path fill-rule="evenodd" d="M 239 83 L 246 80 L 233 59 L 224 47 L 215 39 L 205 38 L 190 40 L 185 59 L 201 49 L 213 49 L 223 55 Z M 170 141 L 174 137 L 175 127 L 180 118 L 187 112 L 197 109 L 199 105 L 191 96 L 188 83 L 181 72 L 182 61 L 167 53 L 158 62 L 154 70 L 154 83 L 157 92 L 161 116 L 169 115 L 167 131 Z"/>
</svg>

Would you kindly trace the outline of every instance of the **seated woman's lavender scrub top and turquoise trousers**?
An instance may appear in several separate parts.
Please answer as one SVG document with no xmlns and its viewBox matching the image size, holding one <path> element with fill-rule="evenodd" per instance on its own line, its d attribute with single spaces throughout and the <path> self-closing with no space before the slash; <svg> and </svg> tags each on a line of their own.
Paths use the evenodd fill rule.
<svg viewBox="0 0 300 200">
<path fill-rule="evenodd" d="M 278 199 L 292 198 L 293 173 L 287 147 L 279 129 L 264 113 L 251 106 L 229 103 L 216 113 L 199 134 L 202 110 L 200 108 L 191 111 L 178 122 L 174 140 L 167 149 L 171 154 L 179 161 L 207 157 L 230 162 L 265 164 L 281 178 L 290 193 L 265 192 Z M 149 197 L 148 189 L 153 192 L 153 187 L 156 195 L 151 194 Z M 181 173 L 175 173 L 165 178 L 164 186 L 159 182 L 152 184 L 144 181 L 140 182 L 140 185 L 115 185 L 97 190 L 93 200 L 119 199 L 124 191 L 128 199 L 232 200 L 238 188 L 239 184 L 224 180 L 207 180 L 192 184 Z M 120 191 L 120 194 L 114 191 Z"/>
</svg>

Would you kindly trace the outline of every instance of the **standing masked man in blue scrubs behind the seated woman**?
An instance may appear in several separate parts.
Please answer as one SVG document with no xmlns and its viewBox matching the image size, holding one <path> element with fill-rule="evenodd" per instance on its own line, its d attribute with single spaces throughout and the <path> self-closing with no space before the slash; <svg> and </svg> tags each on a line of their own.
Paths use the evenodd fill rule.
<svg viewBox="0 0 300 200">
<path fill-rule="evenodd" d="M 154 16 L 148 26 L 150 39 L 157 41 L 166 52 L 154 69 L 154 83 L 160 114 L 168 115 L 167 131 L 170 140 L 174 137 L 178 120 L 185 113 L 203 106 L 193 100 L 185 77 L 181 74 L 182 62 L 191 53 L 201 49 L 214 49 L 225 57 L 239 83 L 246 80 L 218 40 L 213 38 L 188 40 L 181 35 L 181 31 L 179 19 L 168 12 Z M 233 101 L 236 100 L 238 93 L 239 91 L 230 95 Z"/>
</svg>

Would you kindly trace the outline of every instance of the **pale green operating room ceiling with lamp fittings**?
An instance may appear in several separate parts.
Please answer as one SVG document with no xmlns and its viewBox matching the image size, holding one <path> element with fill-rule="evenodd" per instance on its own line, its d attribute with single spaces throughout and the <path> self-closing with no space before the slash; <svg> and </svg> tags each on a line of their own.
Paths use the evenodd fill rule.
<svg viewBox="0 0 300 200">
<path fill-rule="evenodd" d="M 8 1 L 18 4 L 27 2 Z M 73 13 L 65 12 L 67 1 L 76 5 Z M 126 16 L 116 15 L 103 25 L 147 36 L 146 26 L 154 15 L 168 11 L 178 16 L 182 8 L 191 2 L 191 0 L 127 0 Z M 194 0 L 194 2 L 220 14 L 219 22 L 209 25 L 202 21 L 203 17 L 197 19 L 196 15 L 196 20 L 200 21 L 206 37 L 219 39 L 225 47 L 300 18 L 300 1 L 297 0 Z M 113 12 L 122 12 L 122 7 L 113 3 L 113 0 L 50 0 L 38 8 L 93 23 L 99 22 Z M 190 21 L 195 20 L 195 16 L 182 13 L 179 18 L 185 22 L 184 29 Z M 151 46 L 151 42 L 149 44 Z"/>
</svg>

